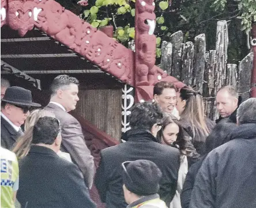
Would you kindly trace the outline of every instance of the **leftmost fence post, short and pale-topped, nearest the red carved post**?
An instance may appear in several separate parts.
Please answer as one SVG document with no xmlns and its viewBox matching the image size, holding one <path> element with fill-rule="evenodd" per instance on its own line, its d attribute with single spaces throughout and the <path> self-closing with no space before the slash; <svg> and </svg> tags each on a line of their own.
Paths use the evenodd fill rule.
<svg viewBox="0 0 256 208">
<path fill-rule="evenodd" d="M 172 44 L 163 41 L 161 46 L 161 69 L 172 74 Z"/>
</svg>

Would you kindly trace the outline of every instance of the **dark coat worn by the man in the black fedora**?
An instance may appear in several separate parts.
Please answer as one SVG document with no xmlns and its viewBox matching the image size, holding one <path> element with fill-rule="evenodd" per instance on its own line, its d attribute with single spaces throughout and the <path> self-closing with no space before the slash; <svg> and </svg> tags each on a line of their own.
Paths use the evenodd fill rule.
<svg viewBox="0 0 256 208">
<path fill-rule="evenodd" d="M 1 116 L 1 147 L 11 150 L 19 136 L 20 133 Z"/>
</svg>

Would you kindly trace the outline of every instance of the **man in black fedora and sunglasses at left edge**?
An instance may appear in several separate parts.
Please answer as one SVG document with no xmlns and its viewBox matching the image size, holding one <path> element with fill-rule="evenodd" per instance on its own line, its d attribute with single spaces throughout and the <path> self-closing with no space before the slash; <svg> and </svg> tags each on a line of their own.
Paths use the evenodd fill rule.
<svg viewBox="0 0 256 208">
<path fill-rule="evenodd" d="M 11 149 L 23 133 L 20 126 L 29 115 L 31 106 L 40 107 L 32 102 L 30 90 L 22 87 L 8 87 L 1 100 L 1 147 Z"/>
</svg>

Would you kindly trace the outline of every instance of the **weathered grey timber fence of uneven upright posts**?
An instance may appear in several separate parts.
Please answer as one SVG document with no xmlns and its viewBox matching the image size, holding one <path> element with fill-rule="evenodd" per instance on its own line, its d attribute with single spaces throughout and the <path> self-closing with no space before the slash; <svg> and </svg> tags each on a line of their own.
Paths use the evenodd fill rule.
<svg viewBox="0 0 256 208">
<path fill-rule="evenodd" d="M 194 86 L 202 94 L 205 114 L 216 119 L 215 106 L 217 90 L 221 86 L 232 85 L 238 88 L 242 99 L 249 98 L 253 53 L 249 53 L 239 63 L 228 64 L 227 21 L 217 22 L 216 49 L 206 51 L 205 34 L 195 37 L 194 43 L 183 43 L 183 33 L 178 31 L 163 41 L 160 67 L 168 74 Z"/>
</svg>

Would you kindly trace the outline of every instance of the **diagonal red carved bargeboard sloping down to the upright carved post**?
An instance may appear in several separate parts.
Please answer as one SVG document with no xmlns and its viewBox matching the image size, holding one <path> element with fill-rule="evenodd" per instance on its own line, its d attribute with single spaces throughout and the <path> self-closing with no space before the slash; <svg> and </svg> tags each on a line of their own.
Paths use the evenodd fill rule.
<svg viewBox="0 0 256 208">
<path fill-rule="evenodd" d="M 10 28 L 18 30 L 21 36 L 36 26 L 117 79 L 134 84 L 133 53 L 59 3 L 54 0 L 9 0 L 9 7 Z"/>
</svg>

